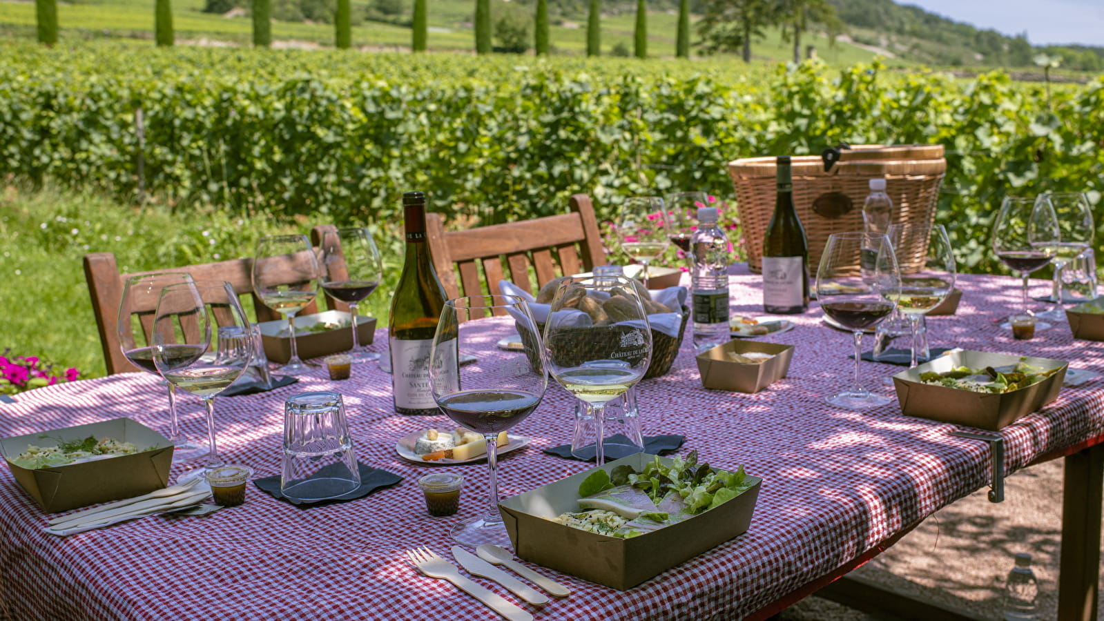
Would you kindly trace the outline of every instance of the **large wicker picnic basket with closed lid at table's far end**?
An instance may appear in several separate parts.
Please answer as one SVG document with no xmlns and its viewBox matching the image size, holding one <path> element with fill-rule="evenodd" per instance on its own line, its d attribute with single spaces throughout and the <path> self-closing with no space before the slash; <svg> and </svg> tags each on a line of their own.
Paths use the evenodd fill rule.
<svg viewBox="0 0 1104 621">
<path fill-rule="evenodd" d="M 894 223 L 931 224 L 947 170 L 942 144 L 841 146 L 826 149 L 822 156 L 795 157 L 792 163 L 794 205 L 809 242 L 810 276 L 816 274 L 829 235 L 862 231 L 862 203 L 871 179 L 885 179 Z M 730 162 L 729 176 L 736 191 L 747 266 L 758 274 L 763 236 L 777 195 L 775 158 Z"/>
</svg>

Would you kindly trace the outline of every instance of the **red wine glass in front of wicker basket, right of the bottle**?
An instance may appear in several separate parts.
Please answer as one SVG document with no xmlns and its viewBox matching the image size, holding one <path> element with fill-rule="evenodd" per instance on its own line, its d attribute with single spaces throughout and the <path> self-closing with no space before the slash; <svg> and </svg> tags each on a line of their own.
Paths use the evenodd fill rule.
<svg viewBox="0 0 1104 621">
<path fill-rule="evenodd" d="M 893 246 L 884 234 L 835 233 L 828 236 L 817 269 L 817 300 L 825 314 L 854 333 L 854 383 L 826 400 L 835 406 L 862 409 L 890 401 L 859 381 L 862 331 L 893 312 L 901 288 Z"/>
</svg>

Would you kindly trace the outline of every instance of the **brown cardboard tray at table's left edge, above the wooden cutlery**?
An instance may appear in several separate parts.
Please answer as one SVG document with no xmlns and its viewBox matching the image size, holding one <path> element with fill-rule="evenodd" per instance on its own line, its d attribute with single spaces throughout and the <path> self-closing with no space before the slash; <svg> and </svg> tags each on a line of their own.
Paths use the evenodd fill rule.
<svg viewBox="0 0 1104 621">
<path fill-rule="evenodd" d="M 28 470 L 11 462 L 30 445 L 57 446 L 56 438 L 77 440 L 95 436 L 155 447 L 134 454 Z M 56 513 L 100 502 L 129 499 L 168 484 L 172 442 L 129 418 L 77 425 L 0 440 L 0 452 L 15 481 L 46 513 Z"/>
</svg>

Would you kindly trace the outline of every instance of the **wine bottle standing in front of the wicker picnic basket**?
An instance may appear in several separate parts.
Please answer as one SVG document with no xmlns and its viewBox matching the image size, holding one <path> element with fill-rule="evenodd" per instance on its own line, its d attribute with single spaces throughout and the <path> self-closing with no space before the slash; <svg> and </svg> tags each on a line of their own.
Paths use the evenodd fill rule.
<svg viewBox="0 0 1104 621">
<path fill-rule="evenodd" d="M 809 308 L 809 243 L 794 207 L 789 158 L 777 160 L 777 197 L 763 237 L 763 310 L 793 314 Z"/>
</svg>

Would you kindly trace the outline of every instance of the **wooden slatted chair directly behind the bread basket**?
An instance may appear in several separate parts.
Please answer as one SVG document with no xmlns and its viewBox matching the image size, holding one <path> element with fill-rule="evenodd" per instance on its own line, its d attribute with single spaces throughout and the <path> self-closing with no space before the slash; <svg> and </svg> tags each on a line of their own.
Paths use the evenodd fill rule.
<svg viewBox="0 0 1104 621">
<path fill-rule="evenodd" d="M 570 204 L 571 213 L 467 231 L 446 232 L 442 215 L 427 213 L 429 253 L 445 295 L 501 293 L 499 280 L 535 295 L 541 285 L 558 276 L 605 265 L 591 197 L 575 194 Z"/>
</svg>

